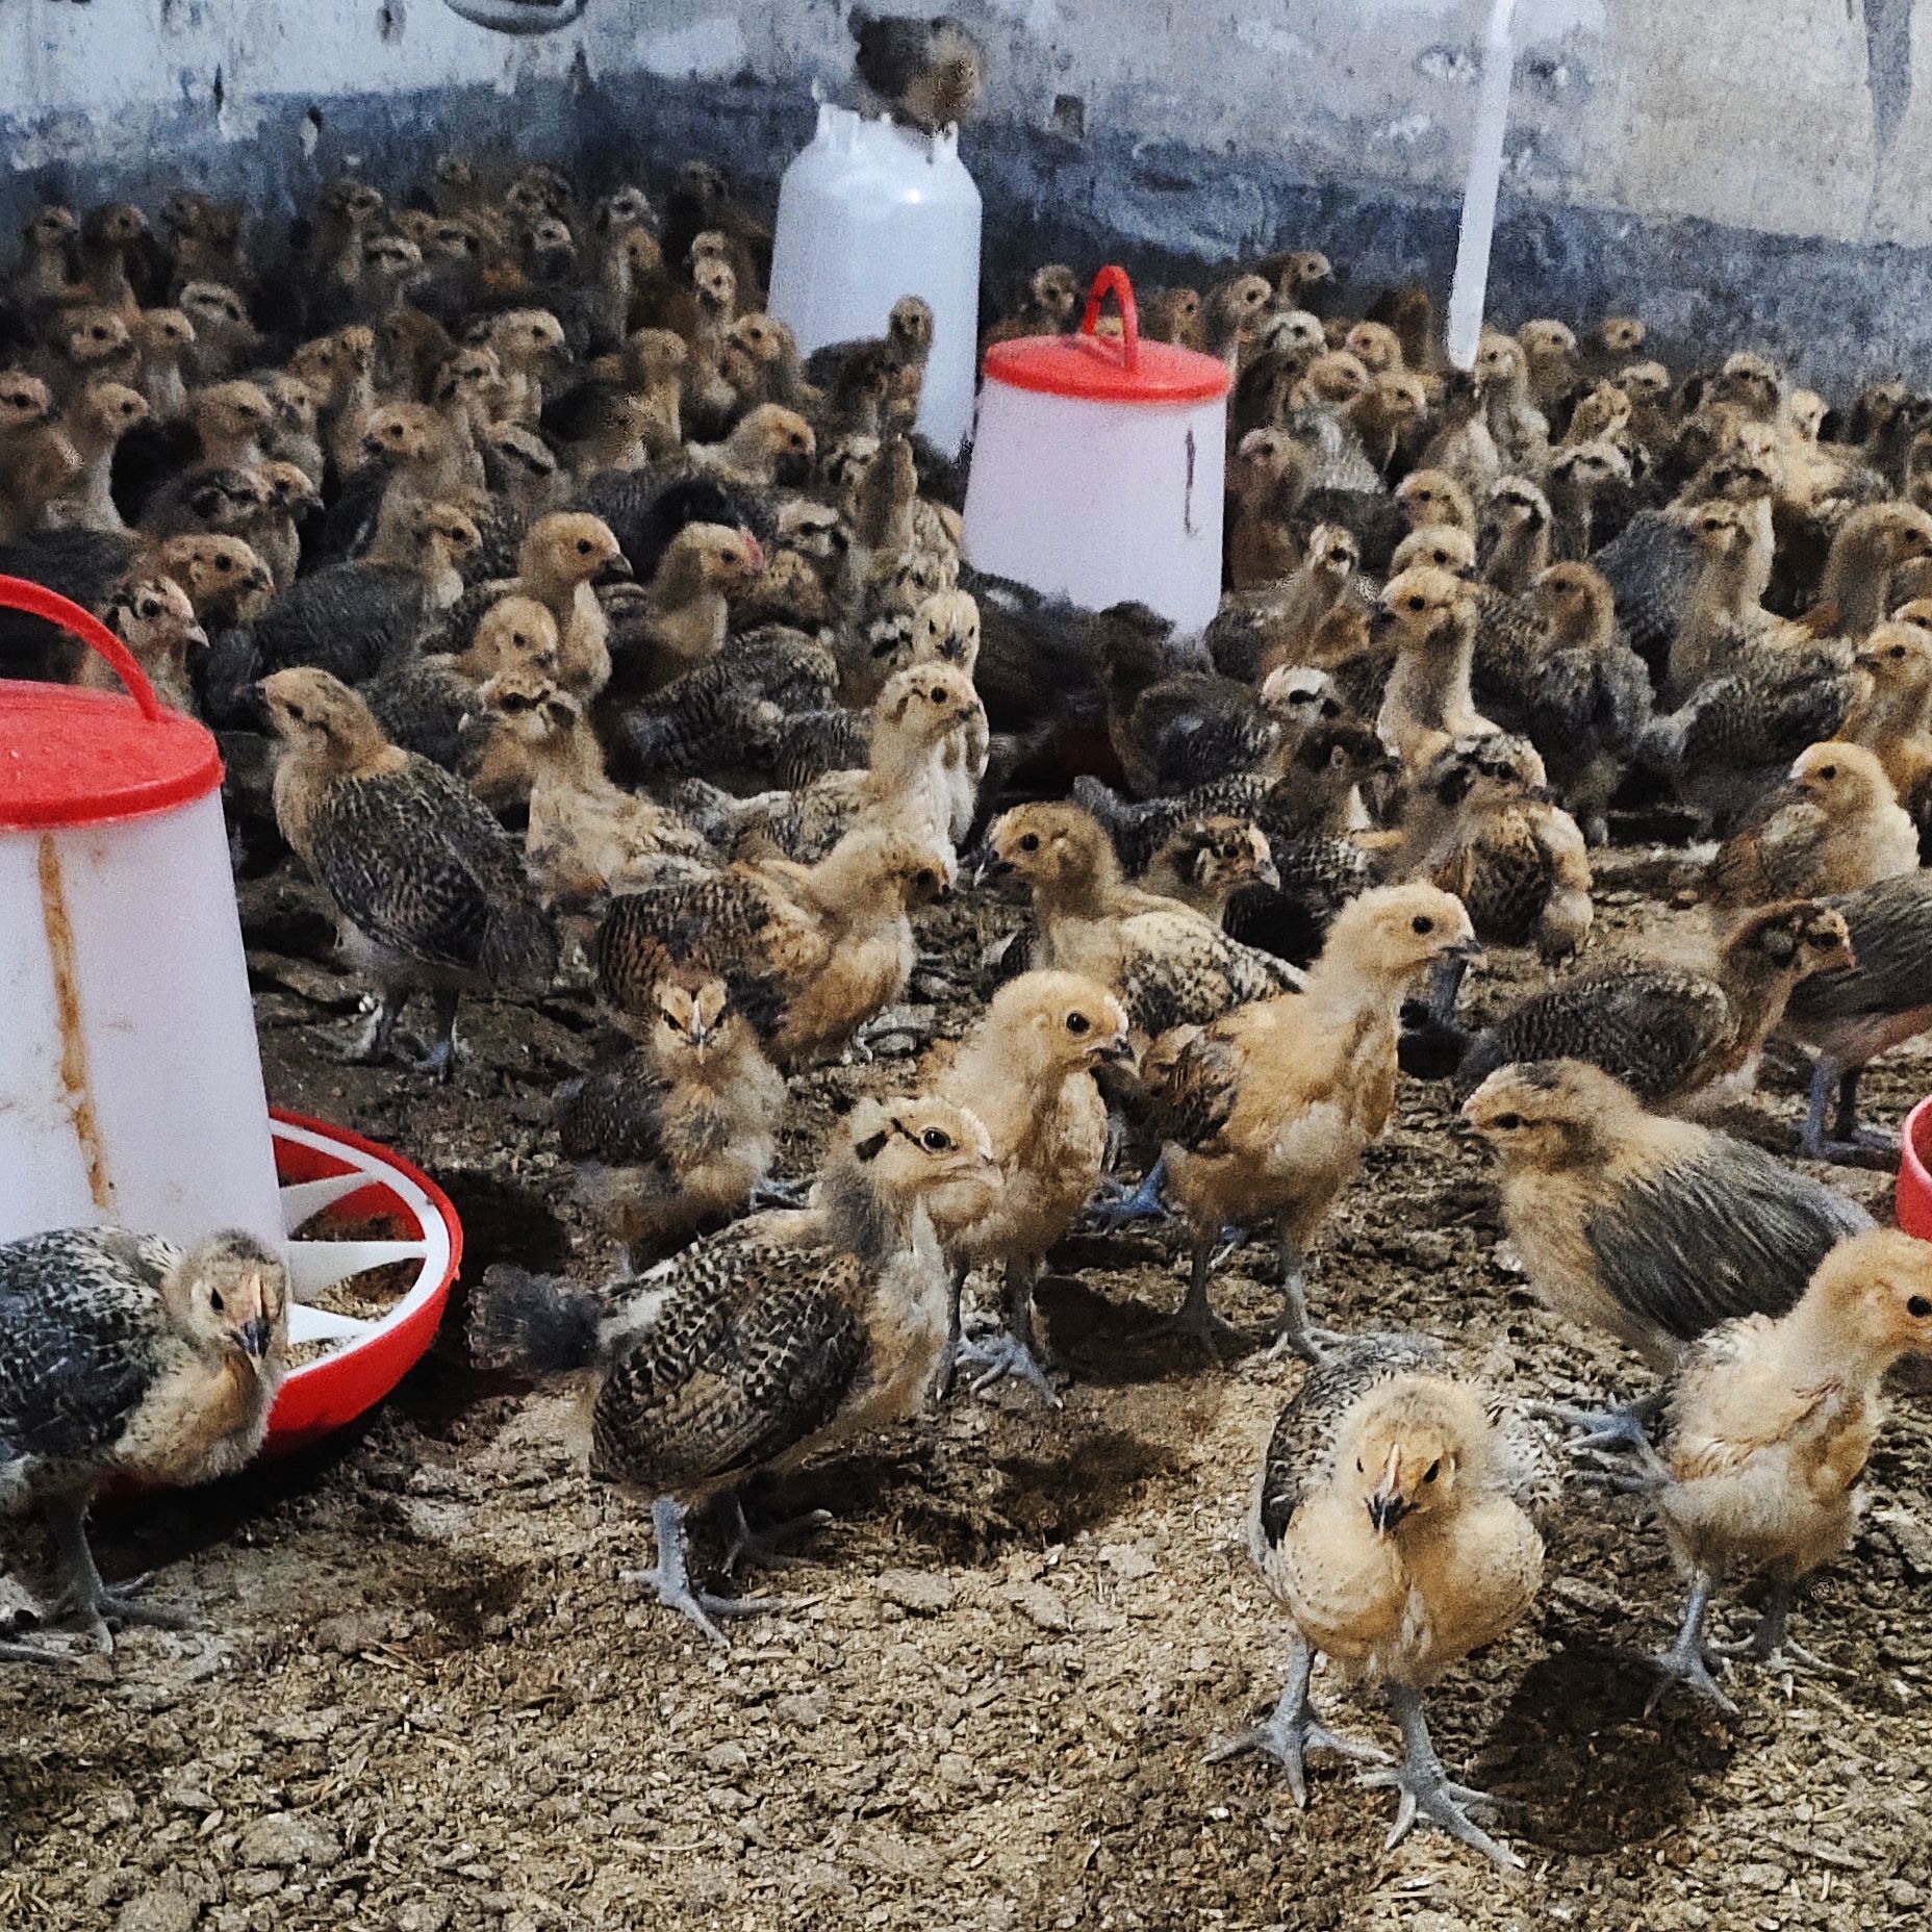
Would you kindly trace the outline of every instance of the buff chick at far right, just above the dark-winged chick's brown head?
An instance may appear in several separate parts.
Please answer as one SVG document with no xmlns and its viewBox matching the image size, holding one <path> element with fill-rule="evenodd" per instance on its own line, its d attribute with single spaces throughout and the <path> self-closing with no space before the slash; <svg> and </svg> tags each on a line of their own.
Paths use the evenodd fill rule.
<svg viewBox="0 0 1932 1932">
<path fill-rule="evenodd" d="M 1783 788 L 1718 848 L 1712 923 L 1729 931 L 1774 898 L 1820 898 L 1918 869 L 1918 827 L 1862 746 L 1808 746 Z"/>
</svg>

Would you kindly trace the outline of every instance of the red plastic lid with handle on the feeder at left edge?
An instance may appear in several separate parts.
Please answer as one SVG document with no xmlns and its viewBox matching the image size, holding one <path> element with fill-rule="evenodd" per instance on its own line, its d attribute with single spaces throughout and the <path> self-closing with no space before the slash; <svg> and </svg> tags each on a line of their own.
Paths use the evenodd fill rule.
<svg viewBox="0 0 1932 1932">
<path fill-rule="evenodd" d="M 222 782 L 214 732 L 170 711 L 104 624 L 25 578 L 0 576 L 0 607 L 73 632 L 133 694 L 0 682 L 0 831 L 137 819 Z"/>
</svg>

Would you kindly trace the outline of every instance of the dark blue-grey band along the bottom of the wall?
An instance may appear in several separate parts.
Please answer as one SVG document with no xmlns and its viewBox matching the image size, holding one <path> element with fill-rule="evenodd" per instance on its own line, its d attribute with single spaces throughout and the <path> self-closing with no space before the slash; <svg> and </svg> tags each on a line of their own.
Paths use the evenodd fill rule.
<svg viewBox="0 0 1932 1932">
<path fill-rule="evenodd" d="M 1864 0 L 1909 6 L 1909 0 Z M 263 253 L 317 187 L 354 166 L 386 191 L 419 182 L 444 147 L 493 149 L 574 162 L 593 193 L 620 180 L 663 185 L 701 156 L 767 191 L 811 139 L 813 100 L 792 87 L 668 81 L 587 70 L 491 87 L 350 95 L 325 106 L 301 97 L 255 102 L 245 139 L 224 141 L 207 104 L 141 110 L 118 164 L 0 176 L 0 226 L 48 199 L 153 207 L 182 180 L 230 193 L 265 214 Z M 1899 110 L 1903 112 L 1903 110 Z M 1070 120 L 1070 116 L 1063 116 Z M 99 153 L 81 116 L 37 116 L 43 151 Z M 1092 272 L 1121 261 L 1136 280 L 1192 282 L 1211 267 L 1287 247 L 1325 249 L 1349 274 L 1349 301 L 1420 278 L 1447 299 L 1455 265 L 1453 195 L 1372 180 L 1308 180 L 1293 155 L 1140 143 L 1130 129 L 1061 129 L 989 122 L 970 129 L 964 158 L 985 197 L 991 299 L 1041 261 Z M 1692 365 L 1712 342 L 1754 344 L 1801 361 L 1806 377 L 1845 392 L 1876 375 L 1932 383 L 1932 249 L 1762 234 L 1700 220 L 1654 220 L 1615 209 L 1567 207 L 1503 193 L 1492 309 L 1503 327 L 1532 315 L 1594 319 L 1634 307 L 1660 352 Z"/>
</svg>

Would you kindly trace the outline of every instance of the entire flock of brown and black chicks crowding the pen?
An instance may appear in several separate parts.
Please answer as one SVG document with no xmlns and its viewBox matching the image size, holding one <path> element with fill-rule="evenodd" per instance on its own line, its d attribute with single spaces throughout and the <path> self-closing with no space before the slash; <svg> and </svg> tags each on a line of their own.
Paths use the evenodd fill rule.
<svg viewBox="0 0 1932 1932">
<path fill-rule="evenodd" d="M 867 81 L 956 118 L 970 44 L 885 25 Z M 1001 1381 L 1057 1405 L 1049 1254 L 1153 1219 L 1177 1349 L 1252 1341 L 1213 1287 L 1264 1231 L 1273 1352 L 1308 1364 L 1256 1445 L 1287 1689 L 1223 1747 L 1298 1803 L 1337 1750 L 1397 1789 L 1391 1841 L 1420 1816 L 1520 1862 L 1422 1698 L 1530 1613 L 1538 1524 L 1592 1486 L 1646 1495 L 1683 1569 L 1660 1687 L 1735 1712 L 1704 1619 L 1760 1575 L 1750 1654 L 1816 1665 L 1793 1588 L 1932 1349 L 1932 1246 L 1692 1115 L 1785 1041 L 1795 1151 L 1895 1159 L 1857 1082 L 1932 1028 L 1932 396 L 1669 367 L 1634 317 L 1490 330 L 1463 371 L 1418 288 L 1352 313 L 1320 253 L 1235 263 L 1142 303 L 1233 375 L 1227 589 L 1184 636 L 974 572 L 964 466 L 916 429 L 931 311 L 802 355 L 709 164 L 661 203 L 460 155 L 394 199 L 344 178 L 286 267 L 236 207 L 156 213 L 25 226 L 0 570 L 216 728 L 238 869 L 305 871 L 367 983 L 344 1053 L 462 1078 L 466 995 L 597 1003 L 554 1132 L 614 1265 L 493 1267 L 469 1341 L 583 1387 L 593 1464 L 653 1503 L 639 1586 L 723 1640 L 775 1600 L 699 1582 L 694 1511 L 734 1567 L 775 1544 L 752 1478 Z M 985 338 L 1066 332 L 1082 288 L 1039 267 Z M 112 682 L 15 612 L 0 670 Z M 1592 852 L 1660 823 L 1712 840 L 1702 960 L 1592 947 Z M 997 908 L 983 958 L 922 952 L 949 895 Z M 1472 1018 L 1482 947 L 1548 985 Z M 949 981 L 962 1037 L 781 1179 L 790 1082 Z M 1453 1082 L 1534 1291 L 1638 1358 L 1627 1401 L 1530 1405 L 1455 1337 L 1310 1308 L 1405 1078 Z M 286 1300 L 240 1235 L 0 1248 L 0 1495 L 52 1524 L 44 1621 L 166 1617 L 100 1582 L 87 1501 L 245 1461 Z M 1399 1764 L 1318 1721 L 1318 1656 L 1385 1689 Z"/>
</svg>

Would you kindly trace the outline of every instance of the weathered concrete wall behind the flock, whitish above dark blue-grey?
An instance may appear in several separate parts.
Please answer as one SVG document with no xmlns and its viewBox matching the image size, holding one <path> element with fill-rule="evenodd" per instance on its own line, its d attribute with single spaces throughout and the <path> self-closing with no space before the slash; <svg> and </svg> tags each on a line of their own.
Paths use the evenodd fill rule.
<svg viewBox="0 0 1932 1932">
<path fill-rule="evenodd" d="M 1488 0 L 952 6 L 993 50 L 966 153 L 995 240 L 1150 272 L 1291 242 L 1445 272 Z M 1683 340 L 1915 365 L 1928 41 L 1913 0 L 1520 0 L 1499 309 L 1638 301 Z M 844 0 L 587 0 L 533 39 L 442 0 L 12 0 L 0 213 L 182 174 L 294 201 L 442 141 L 771 172 L 848 52 Z"/>
</svg>

